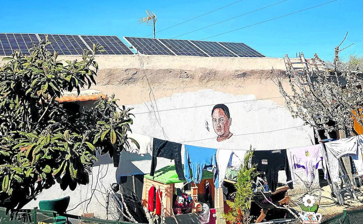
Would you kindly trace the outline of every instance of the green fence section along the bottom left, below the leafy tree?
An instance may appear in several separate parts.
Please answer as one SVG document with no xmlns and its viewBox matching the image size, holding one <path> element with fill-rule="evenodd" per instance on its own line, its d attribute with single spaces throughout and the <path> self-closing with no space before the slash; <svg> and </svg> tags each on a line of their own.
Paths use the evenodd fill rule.
<svg viewBox="0 0 363 224">
<path fill-rule="evenodd" d="M 111 221 L 105 219 L 87 218 L 70 214 L 58 214 L 57 212 L 41 209 L 21 209 L 20 212 L 6 213 L 5 208 L 0 208 L 0 224 L 43 224 L 55 223 L 57 216 L 66 218 L 68 224 L 131 224 L 125 221 Z M 66 222 L 66 223 L 67 223 Z"/>
</svg>

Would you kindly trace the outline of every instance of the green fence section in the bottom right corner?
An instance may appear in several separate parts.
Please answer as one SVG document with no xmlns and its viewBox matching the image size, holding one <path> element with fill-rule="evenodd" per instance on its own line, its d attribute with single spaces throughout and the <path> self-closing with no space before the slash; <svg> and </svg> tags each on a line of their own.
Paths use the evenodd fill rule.
<svg viewBox="0 0 363 224">
<path fill-rule="evenodd" d="M 363 209 L 347 211 L 328 219 L 321 224 L 363 224 Z"/>
</svg>

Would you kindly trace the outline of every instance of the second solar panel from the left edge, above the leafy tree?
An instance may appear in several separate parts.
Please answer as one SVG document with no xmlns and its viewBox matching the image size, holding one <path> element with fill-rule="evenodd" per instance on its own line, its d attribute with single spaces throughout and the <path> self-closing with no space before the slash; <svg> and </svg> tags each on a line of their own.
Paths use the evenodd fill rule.
<svg viewBox="0 0 363 224">
<path fill-rule="evenodd" d="M 77 35 L 38 34 L 41 40 L 45 40 L 46 35 L 48 35 L 48 41 L 50 41 L 46 49 L 50 52 L 56 51 L 59 55 L 81 55 L 84 51 L 89 50 Z"/>
</svg>

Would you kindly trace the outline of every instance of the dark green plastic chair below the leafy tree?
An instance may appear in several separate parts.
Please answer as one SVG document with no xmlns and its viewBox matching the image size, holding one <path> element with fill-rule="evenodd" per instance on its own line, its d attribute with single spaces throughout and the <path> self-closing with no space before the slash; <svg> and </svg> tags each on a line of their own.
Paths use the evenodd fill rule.
<svg viewBox="0 0 363 224">
<path fill-rule="evenodd" d="M 65 213 L 69 205 L 69 200 L 70 197 L 67 196 L 60 199 L 39 201 L 39 209 Z M 56 216 L 53 220 L 53 224 L 65 224 L 67 222 L 67 218 L 64 216 Z"/>
</svg>

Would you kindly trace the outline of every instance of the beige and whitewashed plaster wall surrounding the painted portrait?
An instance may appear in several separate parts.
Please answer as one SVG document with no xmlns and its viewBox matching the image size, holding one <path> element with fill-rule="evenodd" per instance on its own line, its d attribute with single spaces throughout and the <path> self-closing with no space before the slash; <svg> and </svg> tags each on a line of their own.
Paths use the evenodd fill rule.
<svg viewBox="0 0 363 224">
<path fill-rule="evenodd" d="M 92 88 L 108 95 L 115 93 L 120 104 L 135 108 L 132 130 L 136 133 L 241 150 L 250 145 L 264 150 L 312 144 L 312 129 L 291 117 L 273 82 L 272 67 L 278 74 L 284 74 L 283 58 L 135 55 L 98 56 L 96 60 L 100 70 L 97 86 Z M 227 105 L 232 118 L 233 136 L 220 143 L 211 121 L 211 110 L 217 103 Z M 119 176 L 150 172 L 150 159 L 151 155 L 123 152 L 120 167 L 114 168 L 108 155 L 100 156 L 89 185 L 78 186 L 75 191 L 61 191 L 56 185 L 44 191 L 38 200 L 70 195 L 69 208 L 79 204 L 71 213 L 94 212 L 104 218 L 106 188 L 117 182 Z M 170 160 L 158 160 L 157 169 L 167 164 Z M 280 174 L 282 181 L 286 179 L 284 172 Z M 37 203 L 32 201 L 26 207 Z"/>
</svg>

